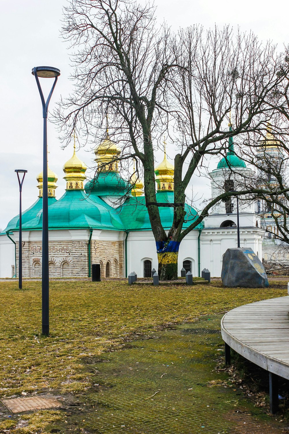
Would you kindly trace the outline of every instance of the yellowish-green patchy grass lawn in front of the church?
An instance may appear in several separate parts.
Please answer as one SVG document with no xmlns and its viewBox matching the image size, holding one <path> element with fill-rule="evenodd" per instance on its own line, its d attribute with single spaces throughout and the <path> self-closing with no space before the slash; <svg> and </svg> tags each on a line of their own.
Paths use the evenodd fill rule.
<svg viewBox="0 0 289 434">
<path fill-rule="evenodd" d="M 270 284 L 272 285 L 272 282 Z M 286 296 L 286 289 L 280 289 L 278 285 L 284 287 L 286 283 L 272 285 L 273 287 L 268 289 L 226 289 L 221 286 L 221 282 L 212 282 L 208 286 L 160 286 L 156 288 L 144 285 L 128 286 L 126 281 L 121 280 L 107 280 L 101 283 L 52 281 L 50 282 L 51 335 L 43 337 L 41 335 L 41 282 L 24 281 L 22 290 L 17 288 L 16 281 L 1 282 L 0 398 L 26 394 L 29 396 L 36 393 L 49 392 L 54 396 L 62 395 L 62 397 L 65 397 L 68 406 L 59 410 L 34 411 L 19 414 L 19 416 L 12 414 L 11 418 L 8 418 L 10 413 L 2 406 L 0 408 L 0 432 L 19 434 L 40 432 L 183 432 L 190 434 L 194 432 L 195 434 L 205 432 L 206 434 L 217 434 L 219 431 L 204 431 L 204 428 L 202 428 L 202 431 L 201 415 L 200 423 L 196 422 L 196 427 L 198 426 L 198 428 L 195 428 L 195 431 L 192 431 L 192 427 L 189 425 L 186 425 L 187 427 L 184 428 L 185 425 L 180 424 L 180 422 L 174 422 L 176 425 L 172 425 L 171 431 L 168 427 L 163 428 L 165 431 L 162 431 L 161 428 L 149 428 L 149 425 L 146 425 L 143 421 L 140 423 L 141 416 L 138 412 L 142 411 L 142 407 L 149 406 L 146 409 L 146 414 L 153 415 L 153 407 L 151 406 L 156 405 L 156 399 L 150 398 L 150 395 L 146 393 L 145 386 L 140 386 L 137 389 L 138 391 L 134 390 L 133 392 L 134 396 L 138 393 L 139 396 L 133 405 L 135 410 L 131 409 L 130 412 L 132 414 L 131 427 L 126 427 L 125 419 L 127 417 L 124 418 L 124 426 L 113 425 L 113 421 L 110 421 L 111 424 L 108 424 L 108 422 L 104 423 L 103 418 L 107 421 L 109 414 L 114 414 L 112 410 L 113 402 L 109 403 L 110 407 L 107 404 L 111 401 L 111 396 L 114 396 L 114 402 L 117 402 L 118 396 L 120 397 L 120 401 L 124 399 L 120 395 L 117 395 L 116 392 L 112 394 L 112 390 L 119 390 L 121 394 L 122 383 L 127 384 L 128 391 L 130 388 L 134 388 L 134 380 L 131 377 L 130 381 L 127 380 L 126 382 L 126 378 L 128 377 L 125 375 L 118 377 L 115 372 L 111 371 L 111 367 L 117 365 L 119 367 L 123 366 L 124 362 L 119 358 L 122 355 L 127 365 L 130 365 L 130 360 L 136 360 L 136 355 L 138 358 L 141 357 L 141 359 L 135 363 L 144 364 L 147 362 L 144 351 L 149 351 L 150 354 L 153 354 L 153 352 L 159 351 L 159 345 L 163 345 L 164 352 L 167 351 L 174 354 L 172 355 L 172 360 L 176 357 L 175 362 L 181 363 L 183 362 L 179 361 L 181 356 L 178 356 L 178 358 L 172 348 L 168 346 L 168 342 L 172 345 L 173 336 L 164 334 L 163 330 L 165 328 L 168 326 L 170 327 L 169 330 L 175 328 L 178 342 L 183 342 L 182 336 L 187 336 L 186 332 L 182 331 L 185 328 L 178 328 L 180 324 L 192 322 L 197 325 L 200 324 L 199 329 L 204 331 L 205 327 L 208 326 L 208 321 L 211 319 L 212 323 L 210 324 L 214 322 L 214 330 L 217 329 L 218 332 L 218 329 L 220 329 L 219 320 L 221 314 L 224 312 L 248 302 Z M 203 323 L 204 321 L 207 322 Z M 197 326 L 194 327 L 196 328 Z M 209 329 L 210 327 L 211 325 Z M 206 386 L 203 389 L 211 397 L 211 402 L 214 402 L 214 400 L 218 401 L 217 396 L 219 397 L 220 393 L 223 393 L 222 390 L 228 382 L 228 376 L 227 373 L 221 374 L 221 377 L 219 374 L 218 377 L 217 373 L 211 374 L 212 369 L 216 365 L 217 358 L 222 354 L 221 351 L 217 353 L 217 350 L 222 348 L 223 343 L 219 336 L 215 336 L 216 332 L 212 330 L 211 328 L 211 332 L 209 332 L 211 335 L 209 337 L 203 333 L 205 338 L 201 338 L 201 335 L 195 333 L 194 336 L 196 338 L 194 339 L 197 340 L 193 346 L 196 349 L 196 354 L 199 352 L 197 361 L 198 373 L 201 372 L 202 360 L 205 363 L 208 360 L 205 369 L 210 374 L 207 372 L 204 383 L 208 387 Z M 156 333 L 160 334 L 159 342 L 162 343 L 159 344 L 157 339 L 152 339 L 154 344 L 146 343 L 147 338 L 149 336 L 156 337 Z M 146 339 L 143 341 L 144 337 Z M 161 341 L 161 339 L 163 340 Z M 134 347 L 136 352 L 129 352 L 132 347 L 128 343 L 131 341 L 136 342 Z M 186 354 L 188 351 L 192 352 L 192 349 L 189 349 L 192 347 L 192 342 L 190 335 L 188 335 L 188 339 L 186 338 L 182 343 L 183 350 L 182 345 L 178 344 L 178 354 L 181 354 L 182 351 Z M 204 343 L 204 348 L 202 348 L 202 342 Z M 154 345 L 154 347 L 144 350 L 146 348 L 144 345 Z M 212 349 L 214 350 L 213 352 Z M 146 352 L 145 354 L 148 353 Z M 109 359 L 110 366 L 107 367 L 108 365 L 104 363 L 104 368 L 102 369 L 99 364 L 103 363 L 103 359 Z M 161 363 L 157 359 L 155 359 L 155 362 L 153 362 L 153 359 L 151 360 L 152 366 L 153 363 L 156 366 L 159 366 L 158 364 Z M 172 365 L 175 362 L 171 362 Z M 161 363 L 161 366 L 169 365 Z M 180 371 L 182 365 L 178 366 L 178 370 Z M 184 369 L 188 369 L 189 372 L 189 366 L 185 364 L 183 367 Z M 122 368 L 119 369 L 121 370 Z M 143 365 L 143 369 L 149 368 Z M 133 370 L 133 367 L 130 370 Z M 136 373 L 135 381 L 138 384 L 143 384 L 144 380 L 141 380 L 137 375 L 140 374 Z M 163 372 L 161 375 L 169 374 Z M 216 379 L 213 378 L 214 376 Z M 155 380 L 150 378 L 150 381 Z M 182 382 L 183 380 L 180 379 L 179 381 Z M 214 385 L 214 381 L 217 381 L 215 384 L 218 387 L 209 387 L 209 385 Z M 200 383 L 202 383 L 201 380 Z M 102 392 L 99 391 L 99 384 L 104 385 L 103 396 L 107 397 L 105 398 L 105 402 L 103 401 L 104 398 L 100 399 Z M 153 384 L 155 385 L 155 383 Z M 167 387 L 167 393 L 169 394 L 172 393 L 173 388 L 176 388 L 176 385 L 172 386 L 168 384 Z M 187 384 L 184 385 L 184 388 L 186 390 L 190 389 L 187 387 Z M 155 389 L 152 386 L 153 390 Z M 204 399 L 201 397 L 202 390 L 200 386 L 198 393 L 196 391 L 196 395 L 193 398 L 189 398 L 195 402 L 195 408 L 198 408 L 198 399 Z M 157 393 L 159 392 L 157 391 Z M 217 394 L 216 397 L 214 397 L 214 393 Z M 232 394 L 232 389 L 228 393 Z M 159 395 L 161 394 L 159 393 Z M 149 398 L 149 401 L 144 398 L 145 396 Z M 169 395 L 167 396 L 169 397 Z M 230 400 L 233 402 L 232 396 L 230 395 L 229 399 L 224 395 L 224 402 Z M 171 398 L 167 398 L 167 407 L 164 406 L 163 409 L 155 408 L 155 414 L 162 414 L 163 412 L 164 419 L 167 419 L 166 411 L 168 410 L 165 410 L 165 408 L 169 408 L 170 406 L 169 399 Z M 133 398 L 130 398 L 130 403 L 132 402 L 134 402 Z M 246 403 L 243 402 L 242 405 L 244 406 L 245 404 L 250 407 L 250 403 L 247 404 L 247 401 Z M 125 401 L 123 405 L 127 406 L 128 402 Z M 211 405 L 208 404 L 208 407 Z M 228 402 L 224 404 L 223 407 L 226 414 L 230 411 L 230 406 L 234 407 L 234 404 L 228 404 Z M 123 410 L 120 407 L 119 404 L 115 410 L 119 412 L 116 424 L 121 420 L 120 414 Z M 88 408 L 90 409 L 89 411 Z M 103 410 L 104 408 L 105 411 Z M 102 415 L 98 416 L 99 413 L 97 411 L 99 413 L 102 411 Z M 87 416 L 83 416 L 82 418 L 82 415 L 80 416 L 81 412 L 86 412 Z M 171 412 L 172 410 L 168 414 L 171 414 Z M 220 412 L 221 408 L 218 409 L 218 417 L 221 414 Z M 253 413 L 251 412 L 251 414 Z M 255 416 L 259 418 L 259 415 L 255 414 Z M 263 415 L 261 416 L 263 418 Z M 110 419 L 113 419 L 113 417 L 111 416 Z M 225 431 L 220 431 L 220 433 L 247 432 L 230 431 L 231 422 L 229 418 L 227 419 L 226 424 L 223 424 Z M 268 417 L 266 420 L 261 419 L 261 424 L 266 425 L 269 423 Z M 148 417 L 148 420 L 150 420 L 150 417 Z M 174 420 L 179 420 L 179 418 L 174 418 Z M 234 426 L 238 425 L 237 422 L 232 422 L 232 424 Z M 200 431 L 198 431 L 199 429 Z M 259 431 L 249 432 L 258 433 Z M 275 431 L 273 431 L 273 428 L 271 431 L 265 431 L 264 428 L 261 432 L 273 433 Z"/>
</svg>

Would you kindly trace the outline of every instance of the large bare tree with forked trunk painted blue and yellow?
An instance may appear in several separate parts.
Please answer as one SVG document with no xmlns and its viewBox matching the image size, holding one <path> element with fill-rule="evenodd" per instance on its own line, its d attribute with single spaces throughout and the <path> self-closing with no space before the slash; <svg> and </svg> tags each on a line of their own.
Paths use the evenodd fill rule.
<svg viewBox="0 0 289 434">
<path fill-rule="evenodd" d="M 193 26 L 173 34 L 166 24 L 157 25 L 154 12 L 133 0 L 71 0 L 63 34 L 74 50 L 74 91 L 59 103 L 55 118 L 67 138 L 72 128 L 88 137 L 102 131 L 110 113 L 110 135 L 121 143 L 119 161 L 134 158 L 144 174 L 160 279 L 174 279 L 182 239 L 214 204 L 236 195 L 229 189 L 220 192 L 182 230 L 185 189 L 204 158 L 226 156 L 228 139 L 238 136 L 247 160 L 255 164 L 269 120 L 286 148 L 289 58 L 270 43 L 262 46 L 253 34 L 234 35 L 228 27 L 204 31 Z M 234 128 L 229 129 L 230 112 Z M 154 174 L 154 152 L 164 132 L 178 149 L 168 234 L 160 220 Z M 239 194 L 261 192 L 272 194 L 246 183 Z"/>
</svg>

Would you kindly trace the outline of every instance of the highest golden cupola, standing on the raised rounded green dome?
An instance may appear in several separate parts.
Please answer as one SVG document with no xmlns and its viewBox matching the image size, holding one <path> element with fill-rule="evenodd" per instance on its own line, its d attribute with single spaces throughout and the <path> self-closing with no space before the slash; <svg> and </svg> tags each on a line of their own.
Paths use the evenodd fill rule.
<svg viewBox="0 0 289 434">
<path fill-rule="evenodd" d="M 99 171 L 118 172 L 117 156 L 120 154 L 120 148 L 110 140 L 107 132 L 105 140 L 95 149 L 95 159 Z"/>
</svg>

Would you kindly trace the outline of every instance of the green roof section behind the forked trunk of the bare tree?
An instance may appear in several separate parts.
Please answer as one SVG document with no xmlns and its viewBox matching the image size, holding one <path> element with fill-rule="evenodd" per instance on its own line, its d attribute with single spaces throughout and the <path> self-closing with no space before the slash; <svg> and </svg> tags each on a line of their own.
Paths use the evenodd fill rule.
<svg viewBox="0 0 289 434">
<path fill-rule="evenodd" d="M 174 201 L 173 191 L 158 191 L 156 193 L 157 202 L 172 203 Z M 150 230 L 151 224 L 149 221 L 149 213 L 146 208 L 144 196 L 130 197 L 124 204 L 117 208 L 120 218 L 123 221 L 123 226 L 126 230 Z M 170 229 L 173 221 L 173 207 L 159 207 L 162 226 L 164 229 Z M 197 218 L 197 211 L 185 204 L 185 223 L 183 229 L 188 227 Z M 195 229 L 202 229 L 204 224 L 199 224 Z"/>
</svg>

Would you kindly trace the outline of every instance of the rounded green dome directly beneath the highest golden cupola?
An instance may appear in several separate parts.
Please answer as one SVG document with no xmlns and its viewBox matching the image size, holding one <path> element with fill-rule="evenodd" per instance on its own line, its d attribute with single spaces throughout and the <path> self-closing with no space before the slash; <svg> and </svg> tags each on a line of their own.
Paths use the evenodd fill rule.
<svg viewBox="0 0 289 434">
<path fill-rule="evenodd" d="M 124 196 L 131 191 L 132 187 L 118 172 L 103 171 L 99 172 L 96 178 L 88 181 L 84 189 L 87 194 L 93 193 L 96 196 Z"/>
</svg>

